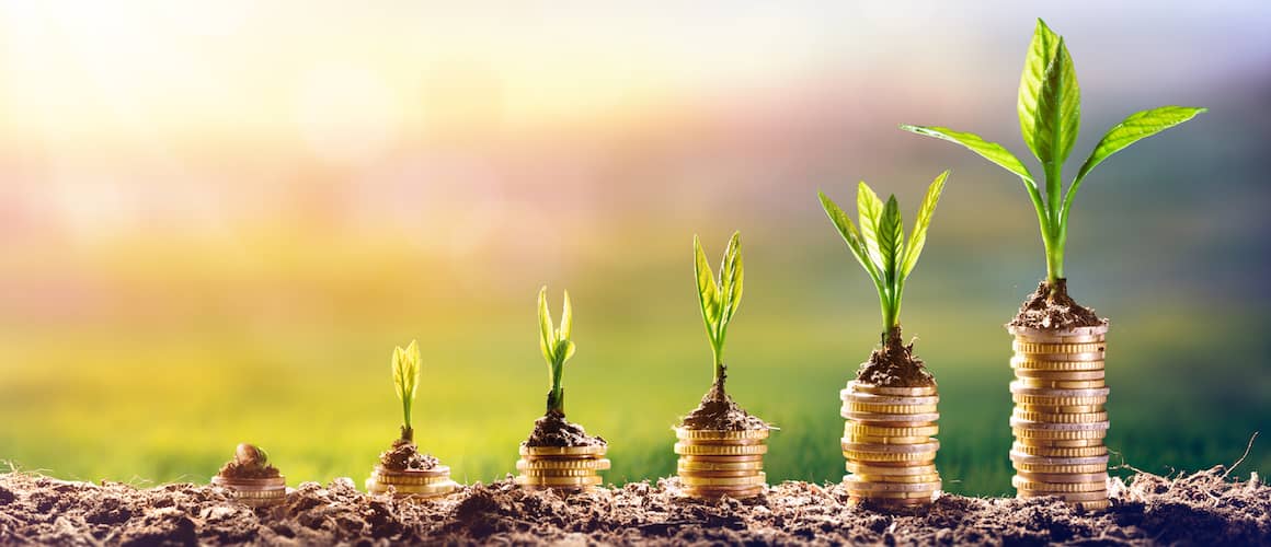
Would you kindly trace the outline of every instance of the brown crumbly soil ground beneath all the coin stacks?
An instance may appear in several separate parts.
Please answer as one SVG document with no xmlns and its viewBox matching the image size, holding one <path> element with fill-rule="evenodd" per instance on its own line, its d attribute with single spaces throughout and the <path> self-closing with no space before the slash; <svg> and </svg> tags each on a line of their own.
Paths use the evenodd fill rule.
<svg viewBox="0 0 1271 547">
<path fill-rule="evenodd" d="M 0 543 L 885 543 L 1271 544 L 1271 487 L 1216 467 L 1113 485 L 1115 504 L 1080 514 L 1052 500 L 939 498 L 930 511 L 890 517 L 850 506 L 838 485 L 774 485 L 716 504 L 676 498 L 672 480 L 561 498 L 510 480 L 465 486 L 441 501 L 374 498 L 348 478 L 306 482 L 286 505 L 252 510 L 211 486 L 147 490 L 0 475 Z"/>
</svg>

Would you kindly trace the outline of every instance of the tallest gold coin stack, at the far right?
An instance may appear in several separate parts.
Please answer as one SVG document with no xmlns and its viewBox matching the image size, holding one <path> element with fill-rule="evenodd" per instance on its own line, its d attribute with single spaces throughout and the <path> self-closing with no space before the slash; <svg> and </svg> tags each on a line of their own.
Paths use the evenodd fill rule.
<svg viewBox="0 0 1271 547">
<path fill-rule="evenodd" d="M 1107 325 L 1046 331 L 1009 327 L 1014 335 L 1010 462 L 1019 498 L 1059 496 L 1087 510 L 1111 505 L 1103 438 L 1103 336 Z"/>
</svg>

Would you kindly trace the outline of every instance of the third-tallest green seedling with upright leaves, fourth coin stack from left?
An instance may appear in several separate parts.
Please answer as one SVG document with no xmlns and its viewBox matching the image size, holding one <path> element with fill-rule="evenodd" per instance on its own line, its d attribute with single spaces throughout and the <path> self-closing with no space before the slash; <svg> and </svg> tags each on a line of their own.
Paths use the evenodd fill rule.
<svg viewBox="0 0 1271 547">
<path fill-rule="evenodd" d="M 719 277 L 710 272 L 707 255 L 702 251 L 702 240 L 693 236 L 695 261 L 693 270 L 698 278 L 698 303 L 702 305 L 702 319 L 707 325 L 707 338 L 710 340 L 710 355 L 714 362 L 714 385 L 723 390 L 728 367 L 723 364 L 723 343 L 728 335 L 728 322 L 741 303 L 741 232 L 733 232 L 723 251 L 719 264 Z"/>
</svg>

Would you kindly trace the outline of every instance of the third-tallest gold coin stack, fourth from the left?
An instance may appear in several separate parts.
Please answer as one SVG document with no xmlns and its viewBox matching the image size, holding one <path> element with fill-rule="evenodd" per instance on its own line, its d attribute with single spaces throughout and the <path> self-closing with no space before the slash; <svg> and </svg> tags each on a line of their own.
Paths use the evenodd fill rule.
<svg viewBox="0 0 1271 547">
<path fill-rule="evenodd" d="M 768 487 L 764 454 L 768 453 L 768 428 L 722 429 L 675 428 L 675 453 L 680 454 L 677 473 L 684 494 L 697 499 L 758 496 Z"/>
</svg>

